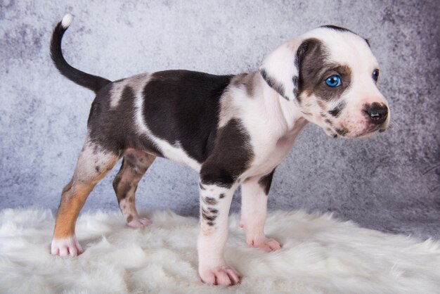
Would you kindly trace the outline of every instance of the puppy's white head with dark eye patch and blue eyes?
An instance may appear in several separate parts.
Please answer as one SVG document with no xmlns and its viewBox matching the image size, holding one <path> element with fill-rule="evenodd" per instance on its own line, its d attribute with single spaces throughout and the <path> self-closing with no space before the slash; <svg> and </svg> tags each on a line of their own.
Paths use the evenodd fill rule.
<svg viewBox="0 0 440 294">
<path fill-rule="evenodd" d="M 388 127 L 387 101 L 376 87 L 379 65 L 368 41 L 354 32 L 319 27 L 278 47 L 260 72 L 330 136 L 357 138 Z"/>
</svg>

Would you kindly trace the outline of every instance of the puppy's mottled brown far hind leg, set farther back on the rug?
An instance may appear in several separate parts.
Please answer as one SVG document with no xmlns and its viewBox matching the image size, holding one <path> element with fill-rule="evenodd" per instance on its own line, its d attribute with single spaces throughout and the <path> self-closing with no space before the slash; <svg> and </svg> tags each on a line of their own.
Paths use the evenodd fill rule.
<svg viewBox="0 0 440 294">
<path fill-rule="evenodd" d="M 135 193 L 143 174 L 145 174 L 154 160 L 154 155 L 129 149 L 125 151 L 121 170 L 119 170 L 113 180 L 113 188 L 115 188 L 119 208 L 127 224 L 134 228 L 141 228 L 150 224 L 148 219 L 138 215 Z"/>
</svg>

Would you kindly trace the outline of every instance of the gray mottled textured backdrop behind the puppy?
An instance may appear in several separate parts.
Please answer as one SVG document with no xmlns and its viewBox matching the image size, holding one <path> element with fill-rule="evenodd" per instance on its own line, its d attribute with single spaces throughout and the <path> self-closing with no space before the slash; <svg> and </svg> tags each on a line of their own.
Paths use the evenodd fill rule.
<svg viewBox="0 0 440 294">
<path fill-rule="evenodd" d="M 392 129 L 347 141 L 309 124 L 276 171 L 269 209 L 330 211 L 382 231 L 440 237 L 439 1 L 0 0 L 0 208 L 56 210 L 82 147 L 93 94 L 59 75 L 48 55 L 65 13 L 74 15 L 66 59 L 109 79 L 245 72 L 286 39 L 329 23 L 367 37 Z M 118 169 L 85 209 L 117 209 Z M 141 181 L 138 207 L 195 215 L 197 178 L 158 159 Z"/>
</svg>

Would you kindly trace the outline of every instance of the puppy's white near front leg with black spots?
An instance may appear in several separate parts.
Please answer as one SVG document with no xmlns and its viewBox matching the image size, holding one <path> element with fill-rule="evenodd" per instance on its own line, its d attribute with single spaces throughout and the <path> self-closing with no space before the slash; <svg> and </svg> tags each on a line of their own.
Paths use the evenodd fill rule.
<svg viewBox="0 0 440 294">
<path fill-rule="evenodd" d="M 211 285 L 235 285 L 238 273 L 224 260 L 228 238 L 228 215 L 237 184 L 224 188 L 221 184 L 200 182 L 200 235 L 198 238 L 199 274 Z"/>
</svg>

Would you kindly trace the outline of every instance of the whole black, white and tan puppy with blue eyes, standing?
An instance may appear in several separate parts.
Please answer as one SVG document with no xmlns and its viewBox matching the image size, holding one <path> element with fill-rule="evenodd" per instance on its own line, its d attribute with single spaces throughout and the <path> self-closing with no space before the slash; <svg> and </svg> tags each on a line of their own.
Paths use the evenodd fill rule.
<svg viewBox="0 0 440 294">
<path fill-rule="evenodd" d="M 376 87 L 379 65 L 368 41 L 342 27 L 323 26 L 290 39 L 259 70 L 209 75 L 187 70 L 145 73 L 110 82 L 68 65 L 61 39 L 72 20 L 53 31 L 51 56 L 68 79 L 96 93 L 87 136 L 72 180 L 63 189 L 51 245 L 53 255 L 82 252 L 75 222 L 84 201 L 119 158 L 113 181 L 129 226 L 148 226 L 135 206 L 138 182 L 157 156 L 200 172 L 199 274 L 233 285 L 226 264 L 228 212 L 242 187 L 246 243 L 265 251 L 280 243 L 264 235 L 273 172 L 308 122 L 330 136 L 359 138 L 387 129 L 387 101 Z"/>
</svg>

